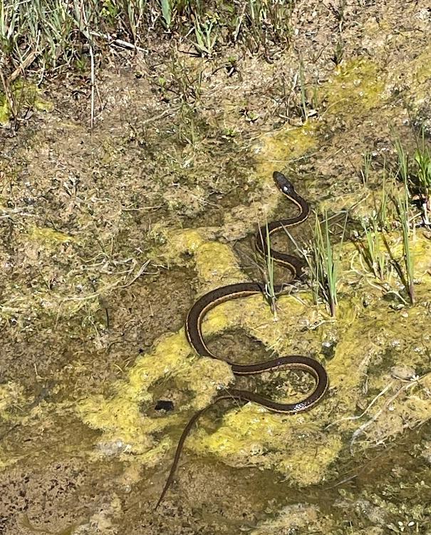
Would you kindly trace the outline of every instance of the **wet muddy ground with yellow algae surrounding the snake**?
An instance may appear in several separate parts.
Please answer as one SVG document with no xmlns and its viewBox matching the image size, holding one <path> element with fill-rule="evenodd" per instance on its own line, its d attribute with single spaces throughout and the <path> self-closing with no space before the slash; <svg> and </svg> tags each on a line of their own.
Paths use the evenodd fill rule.
<svg viewBox="0 0 431 535">
<path fill-rule="evenodd" d="M 192 355 L 187 310 L 259 276 L 256 226 L 290 210 L 273 170 L 313 208 L 369 215 L 383 168 L 396 167 L 394 138 L 412 151 L 430 130 L 430 18 L 427 1 L 298 1 L 290 48 L 266 58 L 116 52 L 98 71 L 93 132 L 90 88 L 73 73 L 41 88 L 48 111 L 2 126 L 0 532 L 430 531 L 423 229 L 414 307 L 384 299 L 345 244 L 336 320 L 305 285 L 280 300 L 279 322 L 260 298 L 214 310 L 214 352 L 311 355 L 331 389 L 295 417 L 250 404 L 207 412 L 154 511 L 187 419 L 232 382 L 227 365 Z M 306 383 L 257 384 L 284 399 Z M 159 399 L 173 411 L 157 411 Z"/>
</svg>

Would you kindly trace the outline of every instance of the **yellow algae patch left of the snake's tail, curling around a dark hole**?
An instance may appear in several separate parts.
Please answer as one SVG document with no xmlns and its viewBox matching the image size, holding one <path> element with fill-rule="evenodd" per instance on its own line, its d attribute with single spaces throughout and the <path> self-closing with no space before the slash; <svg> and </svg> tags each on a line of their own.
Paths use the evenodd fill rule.
<svg viewBox="0 0 431 535">
<path fill-rule="evenodd" d="M 194 359 L 190 359 L 190 353 L 191 349 L 182 330 L 162 337 L 149 355 L 137 359 L 128 380 L 115 384 L 116 393 L 112 398 L 105 399 L 97 395 L 83 399 L 78 404 L 78 413 L 83 422 L 104 431 L 100 439 L 103 449 L 115 453 L 133 452 L 141 455 L 141 462 L 152 464 L 170 444 L 165 441 L 163 447 L 155 448 L 157 444 L 152 439 L 152 434 L 180 422 L 182 416 L 175 414 L 173 417 L 150 418 L 142 414 L 142 402 L 152 400 L 150 387 L 171 374 L 179 378 L 180 384 L 187 377 L 187 388 L 192 392 L 199 385 L 202 387 L 197 402 L 193 403 L 193 407 L 199 409 L 209 403 L 217 387 L 226 386 L 230 382 L 232 372 L 224 362 L 202 359 L 204 362 L 200 361 L 196 366 Z M 212 362 L 212 366 L 209 362 Z M 207 379 L 210 369 L 213 370 L 212 377 Z M 182 407 L 185 408 L 187 406 Z"/>
</svg>

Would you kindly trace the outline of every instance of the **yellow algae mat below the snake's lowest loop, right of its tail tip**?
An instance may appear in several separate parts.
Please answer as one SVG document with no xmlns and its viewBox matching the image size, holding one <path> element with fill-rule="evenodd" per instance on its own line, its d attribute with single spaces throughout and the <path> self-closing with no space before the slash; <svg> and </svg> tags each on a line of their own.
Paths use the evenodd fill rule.
<svg viewBox="0 0 431 535">
<path fill-rule="evenodd" d="M 301 486 L 316 484 L 338 456 L 342 441 L 337 434 L 325 437 L 315 420 L 316 414 L 286 416 L 249 403 L 227 412 L 217 432 L 207 434 L 199 428 L 190 447 L 217 454 L 232 466 L 256 465 Z"/>
</svg>

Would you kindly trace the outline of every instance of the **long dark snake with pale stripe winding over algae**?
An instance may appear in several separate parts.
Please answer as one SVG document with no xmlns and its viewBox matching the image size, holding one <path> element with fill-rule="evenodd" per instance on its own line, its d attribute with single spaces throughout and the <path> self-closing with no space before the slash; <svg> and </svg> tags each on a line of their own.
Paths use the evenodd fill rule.
<svg viewBox="0 0 431 535">
<path fill-rule="evenodd" d="M 273 174 L 274 182 L 276 183 L 277 188 L 284 194 L 284 196 L 289 199 L 299 210 L 298 215 L 289 218 L 289 219 L 280 219 L 271 221 L 267 225 L 263 225 L 259 228 L 255 236 L 255 245 L 256 249 L 261 255 L 266 257 L 270 255 L 276 263 L 286 266 L 292 274 L 291 280 L 296 280 L 302 277 L 303 275 L 303 260 L 294 256 L 288 255 L 286 253 L 280 253 L 279 251 L 273 250 L 269 247 L 269 238 L 272 234 L 276 233 L 279 230 L 286 230 L 286 228 L 291 228 L 295 225 L 303 223 L 303 221 L 308 218 L 310 212 L 310 207 L 307 201 L 296 193 L 294 185 L 286 178 L 283 173 L 275 171 Z M 167 490 L 175 476 L 177 470 L 177 465 L 180 462 L 180 456 L 182 448 L 185 444 L 187 435 L 191 431 L 197 419 L 202 416 L 210 407 L 213 407 L 214 404 L 222 401 L 223 399 L 230 399 L 231 401 L 236 402 L 253 402 L 266 407 L 273 412 L 281 412 L 285 414 L 297 414 L 298 412 L 308 411 L 314 407 L 318 402 L 321 401 L 323 396 L 326 394 L 329 386 L 328 374 L 326 374 L 325 368 L 321 365 L 320 362 L 314 360 L 311 357 L 305 357 L 303 355 L 287 355 L 284 357 L 277 357 L 275 359 L 266 360 L 264 362 L 257 362 L 255 364 L 237 364 L 224 357 L 219 355 L 214 355 L 207 344 L 205 343 L 204 336 L 202 335 L 202 321 L 207 315 L 209 310 L 212 310 L 217 305 L 227 300 L 238 299 L 239 297 L 248 297 L 249 295 L 261 294 L 265 290 L 265 285 L 262 282 L 238 282 L 236 284 L 226 285 L 211 292 L 202 295 L 194 305 L 189 310 L 187 319 L 185 322 L 185 334 L 189 345 L 194 349 L 197 355 L 201 357 L 211 357 L 217 360 L 223 360 L 231 367 L 234 375 L 253 375 L 261 374 L 263 372 L 269 372 L 271 370 L 277 370 L 279 368 L 284 368 L 288 370 L 303 370 L 313 377 L 315 381 L 315 387 L 311 394 L 305 399 L 302 399 L 299 402 L 294 403 L 279 403 L 275 402 L 272 399 L 267 399 L 255 392 L 249 392 L 248 390 L 239 390 L 235 388 L 225 389 L 224 392 L 218 394 L 212 402 L 204 407 L 204 409 L 196 412 L 189 422 L 185 426 L 180 440 L 177 444 L 177 449 L 175 452 L 175 457 L 171 465 L 170 473 L 167 477 L 165 486 L 160 494 L 160 498 L 157 501 L 155 509 L 160 505 L 162 500 L 165 497 Z M 274 293 L 279 295 L 280 293 L 286 291 L 285 285 L 275 285 Z"/>
</svg>

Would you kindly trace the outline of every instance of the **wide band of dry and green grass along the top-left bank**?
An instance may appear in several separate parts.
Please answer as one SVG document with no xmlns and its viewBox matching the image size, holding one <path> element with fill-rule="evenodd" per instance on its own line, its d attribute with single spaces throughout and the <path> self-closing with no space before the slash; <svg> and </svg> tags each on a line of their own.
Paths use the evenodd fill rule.
<svg viewBox="0 0 431 535">
<path fill-rule="evenodd" d="M 289 44 L 293 0 L 2 0 L 0 83 L 9 114 L 19 115 L 12 84 L 29 73 L 40 84 L 47 73 L 76 68 L 91 76 L 107 48 L 147 51 L 153 37 L 212 57 L 222 46 L 242 44 L 269 59 Z M 30 71 L 31 69 L 31 71 Z M 4 100 L 3 99 L 3 100 Z"/>
</svg>

